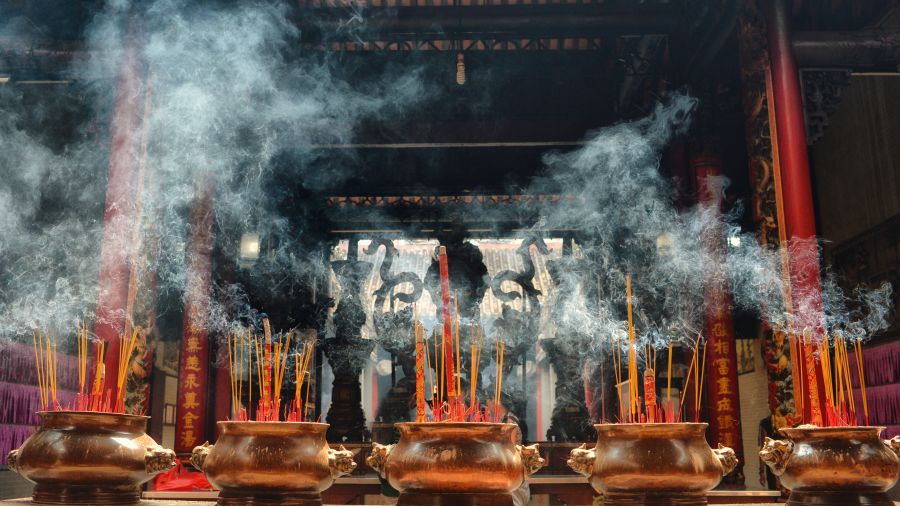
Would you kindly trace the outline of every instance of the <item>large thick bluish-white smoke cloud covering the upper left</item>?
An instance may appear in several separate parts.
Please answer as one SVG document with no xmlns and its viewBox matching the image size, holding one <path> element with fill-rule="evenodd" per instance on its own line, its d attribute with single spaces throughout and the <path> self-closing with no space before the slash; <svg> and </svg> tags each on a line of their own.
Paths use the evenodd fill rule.
<svg viewBox="0 0 900 506">
<path fill-rule="evenodd" d="M 329 59 L 301 54 L 289 18 L 282 2 L 110 1 L 84 33 L 88 56 L 64 72 L 87 111 L 77 130 L 102 133 L 79 134 L 55 149 L 37 131 L 38 112 L 24 105 L 23 89 L 0 86 L 0 339 L 38 326 L 69 334 L 77 319 L 93 317 L 106 133 L 129 48 L 142 76 L 125 102 L 146 107 L 138 121 L 148 125 L 143 189 L 133 199 L 144 216 L 139 239 L 146 254 L 139 261 L 142 272 L 156 277 L 157 290 L 184 290 L 188 209 L 203 182 L 213 190 L 222 247 L 235 247 L 244 230 L 262 229 L 280 236 L 269 243 L 266 269 L 282 277 L 321 269 L 319 252 L 295 242 L 303 230 L 277 208 L 288 185 L 273 183 L 276 170 L 301 188 L 351 176 L 338 164 L 308 169 L 310 146 L 349 140 L 361 120 L 415 103 L 424 88 L 414 71 L 370 77 L 364 85 L 336 77 Z M 0 39 L 33 35 L 22 31 L 22 20 L 6 23 Z M 279 157 L 290 164 L 278 166 Z M 131 261 L 134 237 L 113 239 L 113 251 Z M 239 292 L 218 288 L 236 301 L 243 300 Z M 214 307 L 212 317 L 212 325 L 223 326 L 233 314 Z"/>
</svg>

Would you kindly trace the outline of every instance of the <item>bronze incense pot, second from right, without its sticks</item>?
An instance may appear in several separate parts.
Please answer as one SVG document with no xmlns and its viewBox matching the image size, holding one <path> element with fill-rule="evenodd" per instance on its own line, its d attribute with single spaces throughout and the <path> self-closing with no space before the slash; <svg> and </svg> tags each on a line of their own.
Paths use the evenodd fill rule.
<svg viewBox="0 0 900 506">
<path fill-rule="evenodd" d="M 705 423 L 597 424 L 597 445 L 567 464 L 604 494 L 604 506 L 705 505 L 706 493 L 737 467 L 731 448 L 713 450 Z"/>
</svg>

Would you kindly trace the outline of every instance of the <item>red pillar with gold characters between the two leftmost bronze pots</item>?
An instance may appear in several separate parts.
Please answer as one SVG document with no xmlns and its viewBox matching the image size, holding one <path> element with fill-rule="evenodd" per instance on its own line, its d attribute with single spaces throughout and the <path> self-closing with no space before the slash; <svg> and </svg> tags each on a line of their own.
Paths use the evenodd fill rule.
<svg viewBox="0 0 900 506">
<path fill-rule="evenodd" d="M 175 451 L 189 452 L 205 441 L 209 375 L 209 290 L 212 278 L 212 191 L 197 185 L 190 213 L 184 303 L 184 335 L 178 373 Z"/>
</svg>

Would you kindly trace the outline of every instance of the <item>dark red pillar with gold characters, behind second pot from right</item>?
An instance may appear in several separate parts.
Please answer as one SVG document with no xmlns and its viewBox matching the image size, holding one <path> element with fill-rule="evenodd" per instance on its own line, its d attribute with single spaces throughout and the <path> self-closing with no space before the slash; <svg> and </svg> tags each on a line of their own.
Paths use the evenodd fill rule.
<svg viewBox="0 0 900 506">
<path fill-rule="evenodd" d="M 722 160 L 715 154 L 701 154 L 691 158 L 691 169 L 697 185 L 697 200 L 717 215 L 721 213 L 724 195 Z M 718 216 L 716 217 L 718 218 Z M 704 231 L 704 247 L 713 258 L 724 256 L 725 229 L 716 219 Z M 721 264 L 721 262 L 714 262 Z M 737 347 L 731 315 L 731 295 L 722 276 L 706 280 L 706 399 L 709 406 L 709 432 L 713 444 L 722 444 L 735 451 L 744 462 L 741 439 L 741 402 L 738 395 Z M 729 481 L 743 484 L 742 468 Z"/>
</svg>

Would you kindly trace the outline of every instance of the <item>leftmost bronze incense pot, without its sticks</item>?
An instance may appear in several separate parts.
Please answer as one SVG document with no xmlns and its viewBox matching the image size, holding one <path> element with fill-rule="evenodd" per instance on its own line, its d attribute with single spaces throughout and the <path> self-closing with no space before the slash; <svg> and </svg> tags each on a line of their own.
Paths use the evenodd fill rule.
<svg viewBox="0 0 900 506">
<path fill-rule="evenodd" d="M 149 417 L 42 411 L 41 426 L 7 465 L 33 482 L 41 504 L 138 504 L 141 484 L 175 467 L 175 452 L 147 435 Z"/>
</svg>

